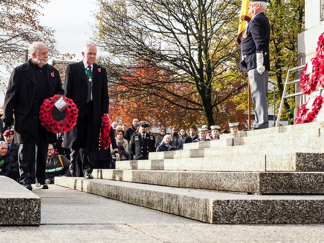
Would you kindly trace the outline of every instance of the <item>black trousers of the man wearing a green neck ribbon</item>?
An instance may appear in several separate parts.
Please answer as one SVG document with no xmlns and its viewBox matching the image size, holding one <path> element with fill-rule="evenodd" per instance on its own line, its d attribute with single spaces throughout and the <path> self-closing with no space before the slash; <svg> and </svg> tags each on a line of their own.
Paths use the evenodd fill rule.
<svg viewBox="0 0 324 243">
<path fill-rule="evenodd" d="M 95 150 L 92 148 L 93 144 L 93 101 L 87 103 L 86 106 L 86 117 L 85 117 L 85 135 L 86 135 L 86 147 L 82 156 L 82 171 L 84 174 L 87 172 L 92 173 L 93 171 L 93 160 L 95 157 Z M 98 137 L 99 139 L 99 137 Z M 76 165 L 78 153 L 80 148 L 71 148 L 71 164 Z"/>
</svg>

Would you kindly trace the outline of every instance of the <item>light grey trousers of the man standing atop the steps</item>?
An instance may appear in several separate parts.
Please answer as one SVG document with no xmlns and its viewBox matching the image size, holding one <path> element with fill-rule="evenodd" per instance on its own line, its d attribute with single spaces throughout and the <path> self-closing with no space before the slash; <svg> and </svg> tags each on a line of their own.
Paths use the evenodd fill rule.
<svg viewBox="0 0 324 243">
<path fill-rule="evenodd" d="M 268 128 L 268 79 L 269 71 L 260 74 L 257 69 L 249 70 L 250 89 L 255 112 L 256 129 Z"/>
</svg>

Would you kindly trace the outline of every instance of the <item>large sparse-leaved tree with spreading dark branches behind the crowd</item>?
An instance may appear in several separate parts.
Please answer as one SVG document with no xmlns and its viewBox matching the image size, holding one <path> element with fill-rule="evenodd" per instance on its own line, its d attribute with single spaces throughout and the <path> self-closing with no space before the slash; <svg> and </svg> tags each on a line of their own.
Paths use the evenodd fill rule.
<svg viewBox="0 0 324 243">
<path fill-rule="evenodd" d="M 129 102 L 140 100 L 145 107 L 150 105 L 147 99 L 154 99 L 159 109 L 178 107 L 211 126 L 218 113 L 226 111 L 225 101 L 245 89 L 246 79 L 237 71 L 228 75 L 238 63 L 239 0 L 98 3 L 95 41 L 111 54 L 104 63 L 109 66 L 112 100 L 120 99 L 113 96 L 116 87 Z M 147 77 L 146 69 L 159 75 Z"/>
</svg>

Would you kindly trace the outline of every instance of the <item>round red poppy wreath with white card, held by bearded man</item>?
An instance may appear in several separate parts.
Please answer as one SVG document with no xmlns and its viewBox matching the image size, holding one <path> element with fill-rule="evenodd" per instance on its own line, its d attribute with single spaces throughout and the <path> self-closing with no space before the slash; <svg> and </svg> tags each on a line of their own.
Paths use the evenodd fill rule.
<svg viewBox="0 0 324 243">
<path fill-rule="evenodd" d="M 58 100 L 64 100 L 66 105 L 59 110 L 55 103 Z M 72 99 L 63 95 L 54 95 L 44 100 L 39 111 L 41 124 L 47 131 L 52 133 L 65 133 L 70 131 L 76 125 L 78 109 Z"/>
</svg>

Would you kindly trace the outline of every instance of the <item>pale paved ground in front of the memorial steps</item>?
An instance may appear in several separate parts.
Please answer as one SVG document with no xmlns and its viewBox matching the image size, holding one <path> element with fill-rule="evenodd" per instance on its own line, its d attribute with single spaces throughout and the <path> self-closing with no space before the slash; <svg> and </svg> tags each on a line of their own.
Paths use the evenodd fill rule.
<svg viewBox="0 0 324 243">
<path fill-rule="evenodd" d="M 41 225 L 0 227 L 0 242 L 324 241 L 323 224 L 210 225 L 55 185 L 33 188 Z"/>
</svg>

